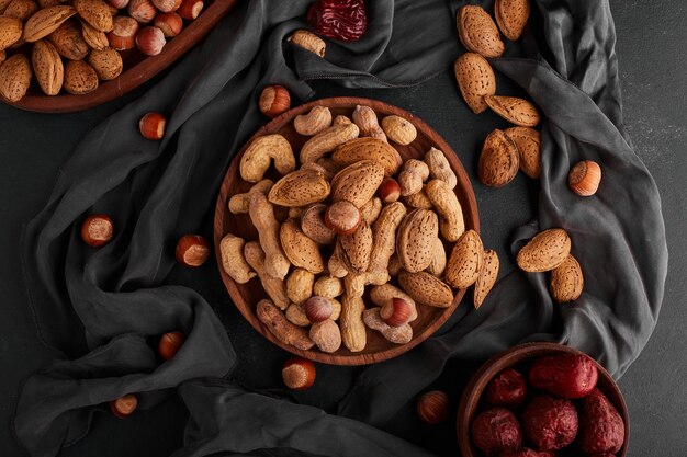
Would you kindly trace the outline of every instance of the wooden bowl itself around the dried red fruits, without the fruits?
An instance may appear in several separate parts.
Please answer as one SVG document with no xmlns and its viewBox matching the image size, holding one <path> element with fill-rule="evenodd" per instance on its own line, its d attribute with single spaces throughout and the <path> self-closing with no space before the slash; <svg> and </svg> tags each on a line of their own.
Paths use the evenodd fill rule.
<svg viewBox="0 0 687 457">
<path fill-rule="evenodd" d="M 458 445 L 463 457 L 484 457 L 485 454 L 477 449 L 470 437 L 470 426 L 475 413 L 481 410 L 481 400 L 487 384 L 494 378 L 500 370 L 514 366 L 519 366 L 532 362 L 537 357 L 544 355 L 555 354 L 584 354 L 574 347 L 564 346 L 556 343 L 526 343 L 500 354 L 495 355 L 482 365 L 482 367 L 472 376 L 470 382 L 463 390 L 460 404 L 458 407 Z M 616 457 L 624 457 L 628 453 L 628 443 L 630 441 L 630 418 L 628 415 L 628 407 L 620 392 L 620 388 L 613 380 L 612 376 L 596 361 L 596 365 L 599 377 L 597 386 L 599 390 L 608 397 L 608 400 L 618 410 L 624 422 L 624 443 L 620 450 L 616 454 Z M 574 445 L 573 445 L 574 446 Z M 564 450 L 560 454 L 565 456 Z M 574 453 L 573 453 L 574 455 Z"/>
</svg>

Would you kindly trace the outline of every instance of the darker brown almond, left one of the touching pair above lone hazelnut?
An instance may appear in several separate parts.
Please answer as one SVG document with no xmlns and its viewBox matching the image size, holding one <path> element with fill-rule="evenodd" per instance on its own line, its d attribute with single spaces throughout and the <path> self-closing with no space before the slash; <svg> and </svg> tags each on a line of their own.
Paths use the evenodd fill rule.
<svg viewBox="0 0 687 457">
<path fill-rule="evenodd" d="M 520 157 L 518 147 L 503 132 L 495 129 L 484 140 L 477 174 L 480 181 L 489 187 L 503 187 L 518 173 Z"/>
</svg>

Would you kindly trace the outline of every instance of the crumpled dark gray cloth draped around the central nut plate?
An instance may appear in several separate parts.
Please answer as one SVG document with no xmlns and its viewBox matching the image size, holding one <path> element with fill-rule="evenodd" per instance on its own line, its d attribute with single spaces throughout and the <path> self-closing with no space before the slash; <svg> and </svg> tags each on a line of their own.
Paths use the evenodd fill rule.
<svg viewBox="0 0 687 457">
<path fill-rule="evenodd" d="M 416 425 L 407 420 L 413 399 L 447 367 L 470 372 L 518 342 L 549 340 L 582 349 L 620 376 L 646 343 L 667 249 L 656 185 L 622 128 L 608 2 L 537 0 L 523 38 L 529 58 L 507 53 L 493 61 L 545 116 L 539 219 L 515 231 L 513 252 L 542 229 L 565 228 L 584 270 L 583 296 L 554 306 L 544 274 L 515 271 L 478 310 L 459 307 L 417 349 L 362 370 L 336 415 L 221 379 L 236 354 L 203 297 L 170 284 L 173 245 L 179 235 L 200 231 L 214 208 L 233 153 L 262 119 L 260 90 L 280 83 L 305 100 L 314 79 L 412 85 L 446 71 L 462 52 L 454 18 L 464 2 L 374 0 L 367 2 L 363 39 L 329 41 L 323 60 L 284 44 L 305 25 L 308 3 L 239 2 L 161 82 L 83 138 L 59 170 L 22 240 L 38 334 L 57 353 L 26 381 L 16 409 L 16 436 L 32 456 L 54 456 L 82 437 L 95 405 L 137 392 L 150 408 L 162 389 L 178 386 L 190 419 L 174 456 L 426 456 L 402 437 Z M 132 128 L 148 111 L 172 113 L 160 142 Z M 582 159 L 604 171 L 598 193 L 585 199 L 566 185 Z M 93 212 L 112 215 L 116 227 L 115 239 L 97 251 L 79 239 L 83 215 Z M 177 329 L 189 339 L 161 363 L 149 340 Z"/>
</svg>

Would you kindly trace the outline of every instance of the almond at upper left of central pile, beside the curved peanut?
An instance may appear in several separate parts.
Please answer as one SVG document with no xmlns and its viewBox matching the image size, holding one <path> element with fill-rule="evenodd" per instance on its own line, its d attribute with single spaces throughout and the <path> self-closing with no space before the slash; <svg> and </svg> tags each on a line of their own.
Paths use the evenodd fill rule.
<svg viewBox="0 0 687 457">
<path fill-rule="evenodd" d="M 270 188 L 268 199 L 275 205 L 299 207 L 324 201 L 329 191 L 329 183 L 322 173 L 301 169 L 277 181 Z"/>
</svg>

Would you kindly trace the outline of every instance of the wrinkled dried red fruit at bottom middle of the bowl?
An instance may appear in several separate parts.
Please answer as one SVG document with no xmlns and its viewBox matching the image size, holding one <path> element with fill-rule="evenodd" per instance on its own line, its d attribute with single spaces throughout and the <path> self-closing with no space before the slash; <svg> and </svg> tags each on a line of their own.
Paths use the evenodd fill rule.
<svg viewBox="0 0 687 457">
<path fill-rule="evenodd" d="M 537 396 L 522 413 L 522 430 L 538 448 L 562 449 L 577 436 L 577 410 L 564 398 Z"/>
</svg>

